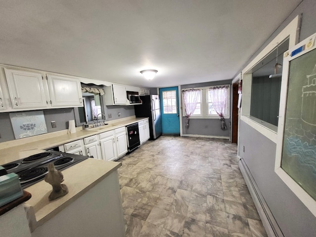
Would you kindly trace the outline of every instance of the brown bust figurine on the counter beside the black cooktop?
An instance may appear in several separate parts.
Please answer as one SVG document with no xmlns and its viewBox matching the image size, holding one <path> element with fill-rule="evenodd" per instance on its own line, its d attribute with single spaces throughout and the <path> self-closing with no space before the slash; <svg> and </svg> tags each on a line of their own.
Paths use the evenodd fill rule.
<svg viewBox="0 0 316 237">
<path fill-rule="evenodd" d="M 61 184 L 63 181 L 63 174 L 55 169 L 53 163 L 49 163 L 48 173 L 45 175 L 45 182 L 49 183 L 53 187 L 53 191 L 48 197 L 50 201 L 68 194 L 68 187 L 65 184 Z"/>
</svg>

